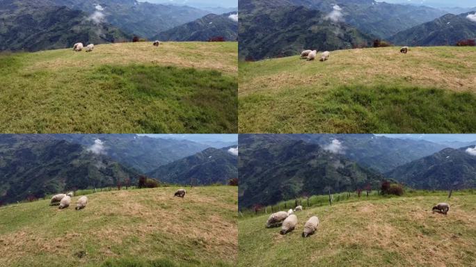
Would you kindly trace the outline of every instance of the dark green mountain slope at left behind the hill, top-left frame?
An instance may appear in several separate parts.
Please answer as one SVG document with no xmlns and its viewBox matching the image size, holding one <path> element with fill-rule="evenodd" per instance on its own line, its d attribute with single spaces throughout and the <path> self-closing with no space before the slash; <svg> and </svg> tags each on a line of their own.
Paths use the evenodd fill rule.
<svg viewBox="0 0 476 267">
<path fill-rule="evenodd" d="M 40 51 L 77 42 L 125 42 L 132 36 L 81 10 L 22 1 L 0 1 L 0 51 Z"/>
</svg>

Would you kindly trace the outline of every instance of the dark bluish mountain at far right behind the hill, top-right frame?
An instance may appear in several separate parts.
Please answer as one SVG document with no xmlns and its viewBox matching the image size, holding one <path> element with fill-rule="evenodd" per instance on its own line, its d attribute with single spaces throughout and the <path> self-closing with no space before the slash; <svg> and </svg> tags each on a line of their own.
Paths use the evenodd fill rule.
<svg viewBox="0 0 476 267">
<path fill-rule="evenodd" d="M 401 31 L 388 40 L 394 44 L 411 46 L 455 45 L 461 40 L 476 39 L 476 22 L 468 15 L 447 14 L 431 22 Z"/>
</svg>

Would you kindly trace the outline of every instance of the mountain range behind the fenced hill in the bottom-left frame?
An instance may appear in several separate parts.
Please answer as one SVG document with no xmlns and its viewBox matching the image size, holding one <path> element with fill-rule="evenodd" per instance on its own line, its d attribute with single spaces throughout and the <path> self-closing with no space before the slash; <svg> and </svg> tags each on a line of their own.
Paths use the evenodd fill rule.
<svg viewBox="0 0 476 267">
<path fill-rule="evenodd" d="M 189 140 L 133 134 L 0 135 L 0 202 L 116 186 L 150 172 L 170 184 L 226 184 L 237 155 Z M 163 167 L 161 167 L 163 166 Z"/>
</svg>

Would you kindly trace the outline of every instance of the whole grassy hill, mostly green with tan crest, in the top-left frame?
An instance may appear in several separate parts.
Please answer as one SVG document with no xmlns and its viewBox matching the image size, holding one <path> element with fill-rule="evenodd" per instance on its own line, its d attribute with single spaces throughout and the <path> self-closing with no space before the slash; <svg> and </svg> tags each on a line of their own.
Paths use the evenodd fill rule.
<svg viewBox="0 0 476 267">
<path fill-rule="evenodd" d="M 237 42 L 0 55 L 3 133 L 233 133 Z"/>
</svg>

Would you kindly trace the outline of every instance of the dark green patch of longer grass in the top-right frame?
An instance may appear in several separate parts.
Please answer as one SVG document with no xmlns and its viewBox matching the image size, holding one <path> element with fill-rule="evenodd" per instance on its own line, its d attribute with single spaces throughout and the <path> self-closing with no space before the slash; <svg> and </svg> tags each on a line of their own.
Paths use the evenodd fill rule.
<svg viewBox="0 0 476 267">
<path fill-rule="evenodd" d="M 344 86 L 316 106 L 335 131 L 353 133 L 470 133 L 476 95 L 441 89 Z"/>
</svg>

